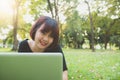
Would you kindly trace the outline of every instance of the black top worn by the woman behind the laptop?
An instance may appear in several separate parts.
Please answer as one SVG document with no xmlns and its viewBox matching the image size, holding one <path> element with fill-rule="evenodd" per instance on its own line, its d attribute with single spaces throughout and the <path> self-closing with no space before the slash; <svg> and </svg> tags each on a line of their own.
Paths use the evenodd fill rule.
<svg viewBox="0 0 120 80">
<path fill-rule="evenodd" d="M 18 52 L 33 52 L 28 44 L 28 39 L 22 41 L 19 44 L 19 49 Z M 48 51 L 45 51 L 48 52 Z M 66 66 L 66 61 L 65 61 L 65 57 L 63 54 L 63 51 L 61 49 L 61 47 L 58 45 L 55 49 L 50 50 L 49 52 L 60 52 L 63 55 L 63 71 L 67 70 L 67 66 Z"/>
</svg>

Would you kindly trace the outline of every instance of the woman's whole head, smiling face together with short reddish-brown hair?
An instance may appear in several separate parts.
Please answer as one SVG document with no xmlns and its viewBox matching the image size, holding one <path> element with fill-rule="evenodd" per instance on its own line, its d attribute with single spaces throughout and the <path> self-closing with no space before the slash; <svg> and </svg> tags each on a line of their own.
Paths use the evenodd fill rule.
<svg viewBox="0 0 120 80">
<path fill-rule="evenodd" d="M 55 19 L 41 16 L 35 21 L 30 30 L 30 37 L 35 42 L 35 47 L 49 51 L 58 45 L 59 27 Z"/>
</svg>

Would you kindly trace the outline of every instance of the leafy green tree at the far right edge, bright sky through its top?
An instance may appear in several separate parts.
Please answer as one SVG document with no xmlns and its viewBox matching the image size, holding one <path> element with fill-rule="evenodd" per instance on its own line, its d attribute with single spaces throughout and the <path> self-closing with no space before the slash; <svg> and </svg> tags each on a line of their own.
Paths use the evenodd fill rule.
<svg viewBox="0 0 120 80">
<path fill-rule="evenodd" d="M 115 26 L 119 23 L 119 4 L 118 0 L 95 0 L 95 12 L 97 16 L 93 16 L 94 26 L 99 29 L 97 33 L 98 43 L 104 44 L 104 48 L 107 49 L 107 44 L 110 42 L 110 37 L 115 33 L 119 32 L 116 30 L 118 27 Z M 102 5 L 102 6 L 101 6 Z M 93 13 L 93 12 L 92 12 Z"/>
</svg>

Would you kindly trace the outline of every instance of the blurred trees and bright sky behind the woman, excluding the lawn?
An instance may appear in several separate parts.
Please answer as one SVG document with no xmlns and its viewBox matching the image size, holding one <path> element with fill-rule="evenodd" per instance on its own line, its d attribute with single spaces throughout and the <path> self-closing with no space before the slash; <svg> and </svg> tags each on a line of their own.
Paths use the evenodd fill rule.
<svg viewBox="0 0 120 80">
<path fill-rule="evenodd" d="M 16 51 L 40 15 L 59 22 L 64 48 L 120 49 L 119 0 L 0 1 L 0 47 Z"/>
</svg>

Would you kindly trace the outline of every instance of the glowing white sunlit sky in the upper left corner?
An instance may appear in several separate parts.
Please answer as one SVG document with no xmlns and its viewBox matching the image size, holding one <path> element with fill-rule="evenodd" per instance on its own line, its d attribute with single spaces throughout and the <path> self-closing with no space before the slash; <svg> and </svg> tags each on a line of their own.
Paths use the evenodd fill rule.
<svg viewBox="0 0 120 80">
<path fill-rule="evenodd" d="M 12 4 L 13 4 L 13 0 L 0 0 L 0 18 L 1 18 L 1 20 L 6 20 L 6 17 L 13 15 Z M 1 27 L 2 27 L 2 25 L 1 25 Z M 0 38 L 1 39 L 6 38 L 6 35 L 10 31 L 10 29 L 11 29 L 11 25 L 8 25 L 8 28 L 1 28 Z"/>
</svg>

